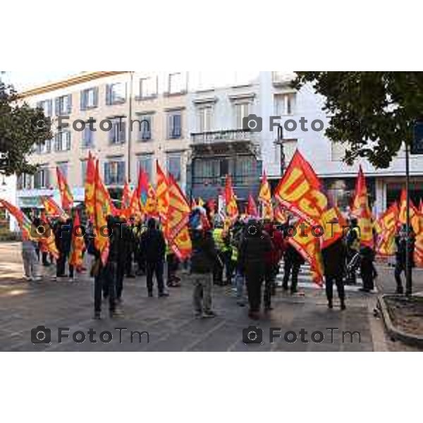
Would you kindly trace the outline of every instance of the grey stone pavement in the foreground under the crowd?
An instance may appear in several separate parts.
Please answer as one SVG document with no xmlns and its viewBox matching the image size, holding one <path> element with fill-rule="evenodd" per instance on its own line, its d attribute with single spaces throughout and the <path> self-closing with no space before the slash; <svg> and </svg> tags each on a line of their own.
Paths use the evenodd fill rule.
<svg viewBox="0 0 423 423">
<path fill-rule="evenodd" d="M 40 283 L 22 280 L 20 245 L 0 245 L 0 350 L 4 351 L 393 351 L 413 350 L 401 343 L 393 343 L 384 335 L 382 323 L 373 316 L 376 295 L 348 293 L 348 309 L 341 312 L 338 302 L 333 310 L 326 308 L 324 291 L 305 288 L 304 295 L 291 296 L 278 290 L 273 299 L 274 310 L 258 322 L 247 317 L 247 307 L 239 307 L 230 288 L 214 288 L 214 309 L 218 317 L 195 319 L 192 314 L 192 286 L 190 278 L 182 274 L 182 288 L 171 288 L 169 298 L 147 298 L 145 278 L 125 279 L 123 293 L 124 317 L 110 319 L 104 303 L 103 319 L 92 319 L 93 283 L 86 274 L 78 275 L 75 281 L 51 281 Z M 383 276 L 382 276 L 383 275 Z M 388 274 L 381 273 L 388 284 Z M 33 345 L 31 329 L 44 325 L 51 329 L 51 344 Z M 263 330 L 262 345 L 245 345 L 243 329 L 251 325 Z M 84 331 L 84 343 L 64 339 L 58 343 L 58 328 L 69 328 L 70 337 L 75 331 Z M 281 339 L 269 342 L 269 328 L 281 328 Z M 119 341 L 121 329 L 122 343 Z M 338 328 L 331 333 L 326 328 Z M 92 339 L 90 343 L 89 329 Z M 307 331 L 308 343 L 300 341 L 300 330 Z M 113 334 L 110 343 L 100 341 L 103 331 Z M 147 331 L 141 336 L 130 331 Z M 295 331 L 298 341 L 287 343 L 284 333 Z M 314 331 L 324 334 L 322 343 L 311 339 Z M 350 336 L 342 340 L 342 331 L 358 331 L 350 342 Z M 81 336 L 81 335 L 80 335 Z M 108 334 L 104 333 L 104 341 Z M 292 335 L 291 335 L 292 336 Z M 317 338 L 319 335 L 316 334 Z M 318 339 L 317 339 L 318 340 Z"/>
</svg>

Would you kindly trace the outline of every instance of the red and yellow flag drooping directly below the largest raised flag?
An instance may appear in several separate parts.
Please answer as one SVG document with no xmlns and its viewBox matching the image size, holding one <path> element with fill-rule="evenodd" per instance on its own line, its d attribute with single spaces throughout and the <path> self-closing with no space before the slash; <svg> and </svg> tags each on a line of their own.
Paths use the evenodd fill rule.
<svg viewBox="0 0 423 423">
<path fill-rule="evenodd" d="M 306 221 L 300 220 L 295 226 L 295 232 L 288 238 L 288 243 L 293 245 L 302 257 L 309 262 L 313 281 L 317 285 L 323 285 L 324 268 L 321 257 L 319 238 L 312 233 L 312 226 Z"/>
</svg>

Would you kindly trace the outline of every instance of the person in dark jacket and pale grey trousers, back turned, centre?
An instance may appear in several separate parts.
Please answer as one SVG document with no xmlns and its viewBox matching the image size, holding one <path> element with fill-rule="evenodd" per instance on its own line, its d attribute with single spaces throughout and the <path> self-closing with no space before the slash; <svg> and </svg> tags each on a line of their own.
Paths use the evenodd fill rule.
<svg viewBox="0 0 423 423">
<path fill-rule="evenodd" d="M 194 283 L 193 302 L 195 317 L 215 317 L 212 311 L 213 269 L 219 262 L 212 233 L 202 226 L 191 231 L 191 274 Z"/>
</svg>

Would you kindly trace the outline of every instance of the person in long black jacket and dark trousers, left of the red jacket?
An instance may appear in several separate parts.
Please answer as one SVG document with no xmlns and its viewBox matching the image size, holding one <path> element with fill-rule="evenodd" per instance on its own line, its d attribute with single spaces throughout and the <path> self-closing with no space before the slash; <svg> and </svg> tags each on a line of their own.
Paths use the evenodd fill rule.
<svg viewBox="0 0 423 423">
<path fill-rule="evenodd" d="M 238 260 L 247 281 L 248 302 L 250 303 L 248 315 L 251 319 L 259 318 L 265 258 L 270 251 L 270 239 L 263 235 L 262 226 L 257 221 L 250 220 L 240 245 Z"/>
</svg>

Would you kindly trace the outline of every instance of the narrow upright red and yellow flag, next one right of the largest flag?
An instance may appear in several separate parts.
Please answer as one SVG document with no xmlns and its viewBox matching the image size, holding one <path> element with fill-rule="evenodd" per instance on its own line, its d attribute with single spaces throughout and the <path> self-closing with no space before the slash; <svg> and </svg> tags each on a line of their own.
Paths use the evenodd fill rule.
<svg viewBox="0 0 423 423">
<path fill-rule="evenodd" d="M 369 200 L 367 197 L 366 178 L 364 177 L 361 166 L 358 171 L 357 182 L 355 183 L 355 195 L 351 213 L 358 221 L 361 244 L 366 247 L 373 247 L 374 238 L 372 212 L 370 211 Z"/>
</svg>

